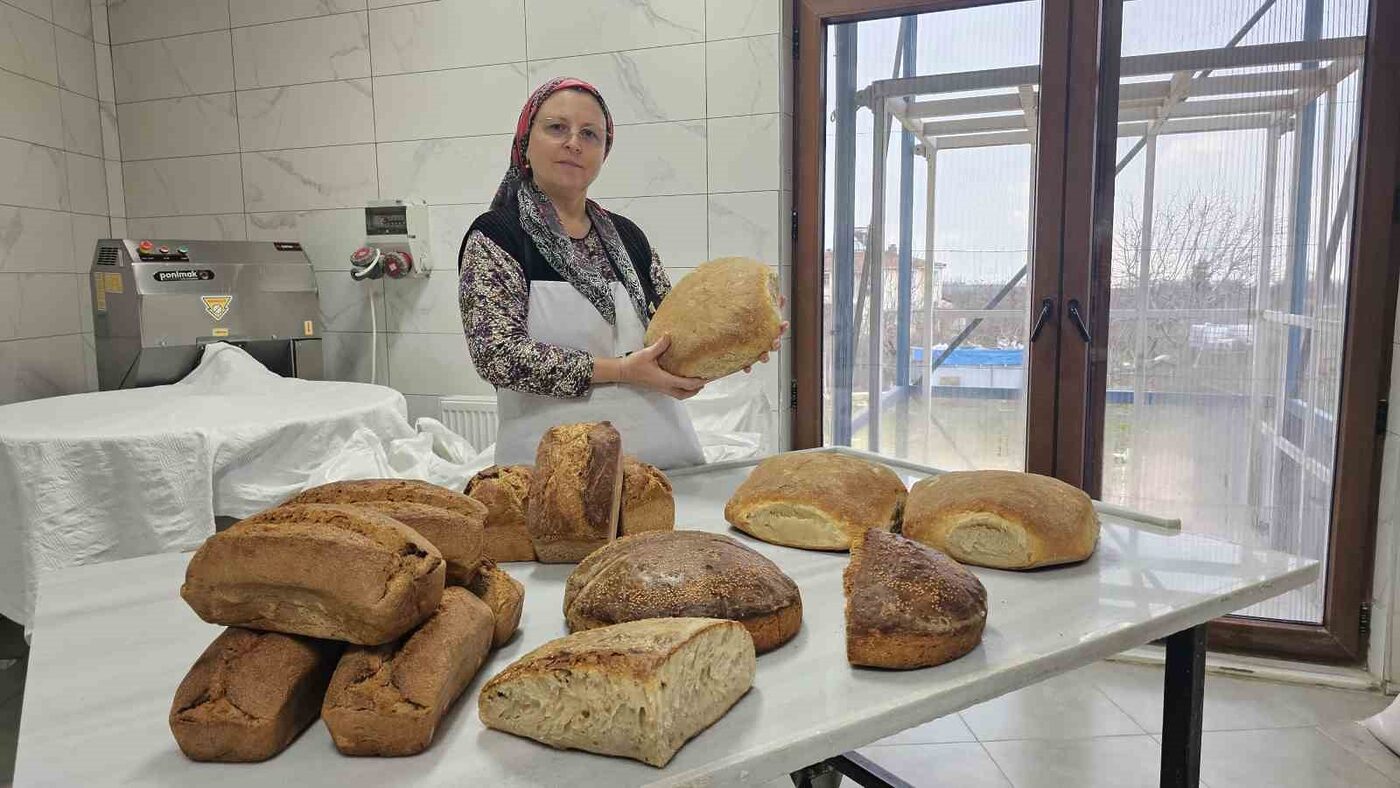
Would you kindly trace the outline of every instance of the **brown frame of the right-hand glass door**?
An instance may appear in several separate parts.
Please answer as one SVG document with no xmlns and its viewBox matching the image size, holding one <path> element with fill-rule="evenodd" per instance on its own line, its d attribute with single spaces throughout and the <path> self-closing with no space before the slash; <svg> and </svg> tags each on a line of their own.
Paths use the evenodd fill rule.
<svg viewBox="0 0 1400 788">
<path fill-rule="evenodd" d="M 1105 0 L 1100 43 L 1102 50 L 1113 56 L 1103 57 L 1100 67 L 1093 246 L 1092 252 L 1084 248 L 1093 265 L 1092 270 L 1067 272 L 1067 279 L 1072 281 L 1065 287 L 1067 300 L 1075 293 L 1089 297 L 1095 342 L 1092 349 L 1074 347 L 1079 340 L 1070 336 L 1061 349 L 1061 385 L 1065 389 L 1061 391 L 1063 439 L 1057 469 L 1077 466 L 1081 486 L 1093 497 L 1102 493 L 1107 393 L 1120 8 L 1121 0 Z M 1359 130 L 1359 178 L 1352 218 L 1323 623 L 1315 626 L 1231 616 L 1211 623 L 1212 648 L 1313 662 L 1358 663 L 1366 658 L 1361 619 L 1362 605 L 1371 598 L 1380 493 L 1379 435 L 1385 432 L 1385 424 L 1376 423 L 1376 414 L 1380 402 L 1389 396 L 1400 276 L 1400 157 L 1396 153 L 1400 144 L 1400 3 L 1390 0 L 1372 0 L 1369 7 Z M 1067 242 L 1071 260 L 1079 251 L 1078 244 Z M 1382 339 L 1378 340 L 1378 336 Z M 1075 381 L 1084 381 L 1084 388 L 1077 389 Z M 1074 407 L 1067 397 L 1086 402 L 1082 434 L 1074 434 Z M 1067 413 L 1071 416 L 1068 420 Z"/>
</svg>

